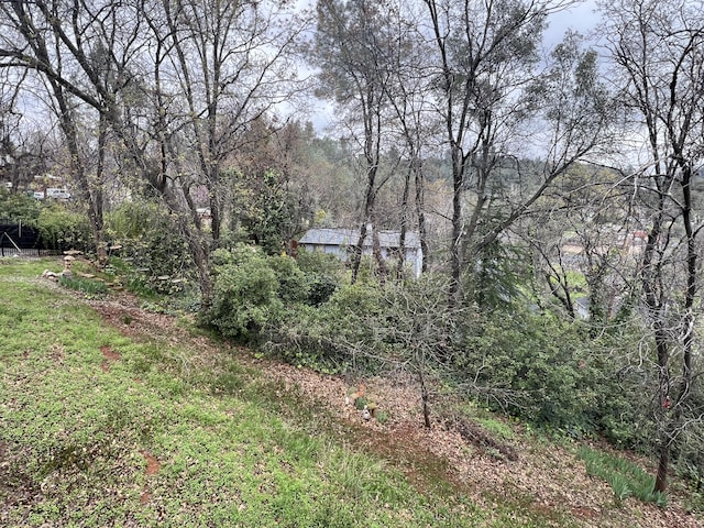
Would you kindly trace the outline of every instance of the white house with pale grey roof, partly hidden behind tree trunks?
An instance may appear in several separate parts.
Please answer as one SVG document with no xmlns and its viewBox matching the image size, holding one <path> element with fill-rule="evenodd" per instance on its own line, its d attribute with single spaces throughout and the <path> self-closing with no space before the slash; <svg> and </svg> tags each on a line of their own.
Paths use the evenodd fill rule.
<svg viewBox="0 0 704 528">
<path fill-rule="evenodd" d="M 356 229 L 315 228 L 306 231 L 306 234 L 298 241 L 298 245 L 304 246 L 307 251 L 331 253 L 346 261 L 349 249 L 356 244 L 359 238 L 360 231 Z M 384 260 L 394 258 L 400 251 L 399 231 L 380 231 L 378 241 Z M 407 232 L 404 245 L 405 261 L 413 267 L 414 275 L 417 278 L 422 271 L 422 250 L 418 233 Z M 369 231 L 362 244 L 362 254 L 372 254 L 372 237 Z"/>
</svg>

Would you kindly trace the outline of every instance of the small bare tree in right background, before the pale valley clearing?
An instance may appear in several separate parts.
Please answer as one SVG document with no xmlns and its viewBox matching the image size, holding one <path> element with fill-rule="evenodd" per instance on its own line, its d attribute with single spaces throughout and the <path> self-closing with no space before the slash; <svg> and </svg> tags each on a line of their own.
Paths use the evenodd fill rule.
<svg viewBox="0 0 704 528">
<path fill-rule="evenodd" d="M 618 306 L 629 304 L 639 258 L 640 229 L 630 217 L 632 189 L 614 169 L 579 164 L 536 202 L 516 231 L 532 249 L 536 275 L 575 318 L 603 331 Z M 540 288 L 538 288 L 540 290 Z M 575 308 L 578 296 L 588 305 Z"/>
</svg>

